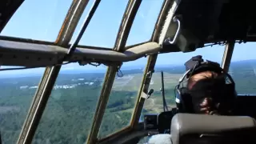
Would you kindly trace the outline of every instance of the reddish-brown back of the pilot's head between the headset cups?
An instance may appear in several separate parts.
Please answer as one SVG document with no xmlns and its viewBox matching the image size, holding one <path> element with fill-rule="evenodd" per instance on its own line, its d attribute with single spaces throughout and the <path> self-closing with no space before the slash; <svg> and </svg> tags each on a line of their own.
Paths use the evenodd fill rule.
<svg viewBox="0 0 256 144">
<path fill-rule="evenodd" d="M 225 97 L 225 94 L 221 94 L 225 85 L 225 78 L 214 71 L 207 70 L 192 75 L 187 82 L 187 89 L 192 96 L 194 112 L 198 114 L 222 114 L 223 112 L 218 109 L 220 102 L 214 103 L 214 99 Z"/>
</svg>

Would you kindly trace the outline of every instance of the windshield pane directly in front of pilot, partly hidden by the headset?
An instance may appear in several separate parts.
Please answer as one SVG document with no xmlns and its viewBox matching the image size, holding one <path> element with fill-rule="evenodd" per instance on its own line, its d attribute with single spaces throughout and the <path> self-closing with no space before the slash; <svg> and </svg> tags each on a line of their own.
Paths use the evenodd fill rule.
<svg viewBox="0 0 256 144">
<path fill-rule="evenodd" d="M 154 66 L 154 74 L 149 87 L 149 90 L 154 90 L 154 94 L 152 94 L 149 99 L 146 99 L 144 103 L 141 121 L 144 118 L 144 114 L 159 114 L 163 111 L 161 71 L 163 71 L 164 76 L 166 103 L 170 110 L 171 107 L 176 106 L 174 87 L 178 85 L 178 79 L 185 73 L 184 63 L 196 55 L 202 55 L 202 58 L 205 60 L 207 59 L 221 64 L 223 52 L 224 46 L 209 46 L 190 53 L 158 54 L 158 59 Z"/>
</svg>

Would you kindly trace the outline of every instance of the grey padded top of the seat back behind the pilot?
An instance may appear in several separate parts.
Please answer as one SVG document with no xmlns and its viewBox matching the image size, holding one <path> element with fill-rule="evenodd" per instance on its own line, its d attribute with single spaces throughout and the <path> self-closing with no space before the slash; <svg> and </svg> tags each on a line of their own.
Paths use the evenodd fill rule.
<svg viewBox="0 0 256 144">
<path fill-rule="evenodd" d="M 175 114 L 171 121 L 170 134 L 174 144 L 187 134 L 216 134 L 256 127 L 254 118 L 246 116 L 220 116 L 205 114 Z"/>
</svg>

